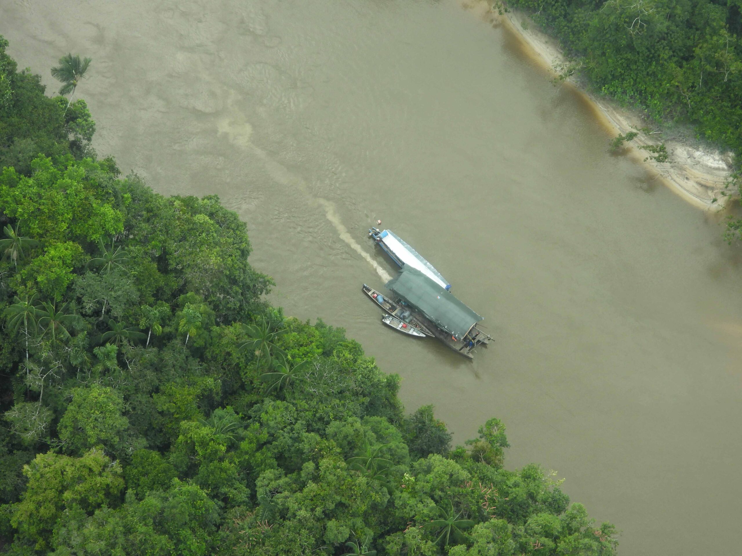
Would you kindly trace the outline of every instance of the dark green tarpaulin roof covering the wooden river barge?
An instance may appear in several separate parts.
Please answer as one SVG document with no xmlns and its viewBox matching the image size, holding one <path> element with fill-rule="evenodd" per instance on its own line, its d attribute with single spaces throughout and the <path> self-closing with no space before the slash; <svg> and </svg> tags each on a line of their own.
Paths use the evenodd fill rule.
<svg viewBox="0 0 742 556">
<path fill-rule="evenodd" d="M 461 339 L 482 317 L 416 268 L 404 265 L 387 288 L 418 308 L 439 328 Z"/>
</svg>

